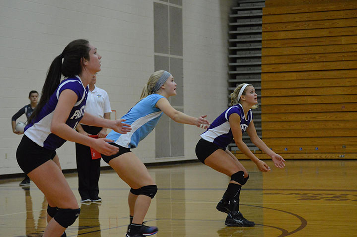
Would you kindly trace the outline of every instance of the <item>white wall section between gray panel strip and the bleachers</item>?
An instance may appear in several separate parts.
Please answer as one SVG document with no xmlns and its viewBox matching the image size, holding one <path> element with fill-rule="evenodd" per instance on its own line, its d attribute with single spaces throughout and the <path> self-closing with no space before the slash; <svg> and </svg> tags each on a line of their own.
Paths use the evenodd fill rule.
<svg viewBox="0 0 357 237">
<path fill-rule="evenodd" d="M 212 122 L 227 108 L 228 15 L 234 1 L 183 2 L 184 111 Z M 185 158 L 196 159 L 202 129 L 185 125 Z"/>
</svg>

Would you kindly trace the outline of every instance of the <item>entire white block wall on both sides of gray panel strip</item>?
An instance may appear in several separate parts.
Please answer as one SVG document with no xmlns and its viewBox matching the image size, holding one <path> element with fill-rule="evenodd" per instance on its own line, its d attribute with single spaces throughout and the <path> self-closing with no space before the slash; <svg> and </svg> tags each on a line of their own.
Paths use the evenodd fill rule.
<svg viewBox="0 0 357 237">
<path fill-rule="evenodd" d="M 183 0 L 184 111 L 207 114 L 210 121 L 227 106 L 231 5 Z M 153 29 L 153 0 L 0 0 L 0 175 L 22 173 L 16 162 L 22 136 L 12 133 L 11 117 L 29 103 L 29 91 L 41 92 L 52 60 L 71 40 L 88 39 L 98 48 L 103 58 L 97 86 L 108 92 L 119 118 L 139 99 L 154 70 Z M 202 130 L 184 128 L 184 159 L 196 159 Z M 144 162 L 156 162 L 155 130 L 133 151 Z M 76 168 L 73 142 L 57 153 L 63 169 Z"/>
</svg>

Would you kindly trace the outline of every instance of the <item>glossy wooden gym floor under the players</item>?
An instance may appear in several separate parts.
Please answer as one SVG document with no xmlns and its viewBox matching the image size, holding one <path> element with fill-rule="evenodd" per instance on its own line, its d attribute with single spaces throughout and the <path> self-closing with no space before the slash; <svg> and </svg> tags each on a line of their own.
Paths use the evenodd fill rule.
<svg viewBox="0 0 357 237">
<path fill-rule="evenodd" d="M 357 160 L 288 160 L 286 168 L 250 173 L 241 192 L 241 212 L 254 227 L 226 227 L 216 210 L 229 178 L 201 163 L 149 167 L 159 191 L 146 215 L 153 237 L 357 237 Z M 76 174 L 66 174 L 80 200 Z M 43 194 L 22 179 L 0 180 L 0 236 L 40 237 L 46 226 Z M 111 170 L 102 171 L 101 204 L 80 204 L 68 237 L 124 237 L 129 188 Z"/>
</svg>

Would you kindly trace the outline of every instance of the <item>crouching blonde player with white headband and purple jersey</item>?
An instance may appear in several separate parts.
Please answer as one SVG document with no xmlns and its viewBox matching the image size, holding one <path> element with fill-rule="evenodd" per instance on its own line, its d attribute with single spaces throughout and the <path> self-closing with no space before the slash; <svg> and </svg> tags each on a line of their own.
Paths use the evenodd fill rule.
<svg viewBox="0 0 357 237">
<path fill-rule="evenodd" d="M 270 167 L 259 160 L 243 142 L 242 134 L 246 131 L 250 140 L 267 155 L 277 168 L 285 167 L 285 160 L 258 137 L 254 127 L 251 109 L 257 108 L 257 94 L 250 84 L 240 84 L 231 94 L 231 107 L 218 116 L 196 145 L 196 155 L 205 165 L 231 177 L 222 200 L 217 204 L 217 210 L 227 213 L 227 226 L 254 226 L 239 211 L 239 195 L 242 185 L 249 179 L 249 174 L 238 159 L 227 150 L 228 144 L 234 139 L 237 147 L 251 159 L 262 172 L 270 171 Z"/>
</svg>

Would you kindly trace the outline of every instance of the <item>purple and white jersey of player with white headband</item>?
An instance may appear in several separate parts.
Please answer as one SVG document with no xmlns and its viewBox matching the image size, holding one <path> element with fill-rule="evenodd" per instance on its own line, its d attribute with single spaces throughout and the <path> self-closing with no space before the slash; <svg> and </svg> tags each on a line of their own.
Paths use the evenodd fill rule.
<svg viewBox="0 0 357 237">
<path fill-rule="evenodd" d="M 201 138 L 212 142 L 219 147 L 226 149 L 228 144 L 233 140 L 233 134 L 229 123 L 229 116 L 233 113 L 237 113 L 240 116 L 240 128 L 242 133 L 246 131 L 250 122 L 253 120 L 253 112 L 249 109 L 245 118 L 243 106 L 241 104 L 229 107 L 220 116 L 218 116 L 209 128 L 201 134 Z"/>
</svg>

